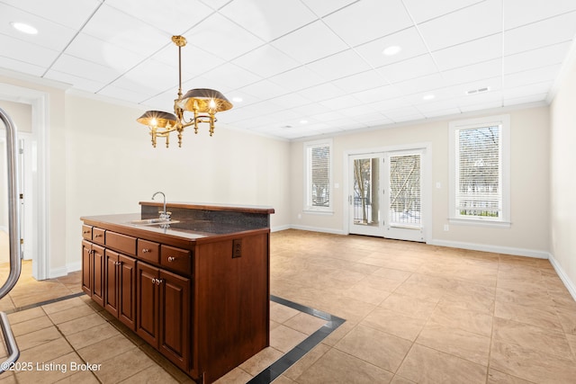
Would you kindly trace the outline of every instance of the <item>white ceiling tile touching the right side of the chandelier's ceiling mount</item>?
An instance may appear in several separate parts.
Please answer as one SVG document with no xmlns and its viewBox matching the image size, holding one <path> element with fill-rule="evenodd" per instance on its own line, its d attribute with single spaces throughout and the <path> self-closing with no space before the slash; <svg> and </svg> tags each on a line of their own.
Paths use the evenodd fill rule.
<svg viewBox="0 0 576 384">
<path fill-rule="evenodd" d="M 219 13 L 212 13 L 192 30 L 184 33 L 184 37 L 189 44 L 201 47 L 227 61 L 264 44 L 264 40 Z"/>
</svg>

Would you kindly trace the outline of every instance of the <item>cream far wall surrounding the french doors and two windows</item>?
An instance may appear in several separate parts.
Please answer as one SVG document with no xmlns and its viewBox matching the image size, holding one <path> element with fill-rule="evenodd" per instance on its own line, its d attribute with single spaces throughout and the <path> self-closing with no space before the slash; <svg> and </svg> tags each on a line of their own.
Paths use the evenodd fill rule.
<svg viewBox="0 0 576 384">
<path fill-rule="evenodd" d="M 493 114 L 501 114 L 494 112 Z M 546 257 L 549 210 L 549 109 L 546 106 L 513 110 L 511 129 L 511 221 L 510 228 L 485 228 L 448 223 L 448 123 L 449 120 L 430 121 L 396 128 L 377 129 L 333 138 L 333 183 L 345 184 L 343 174 L 347 151 L 363 148 L 403 146 L 429 143 L 432 148 L 432 244 L 462 246 L 513 255 Z M 456 117 L 455 120 L 461 119 Z M 301 228 L 319 228 L 336 233 L 345 232 L 343 200 L 347 191 L 334 189 L 334 214 L 314 215 L 303 212 L 303 142 L 293 142 L 291 148 L 293 207 L 292 222 Z M 436 188 L 440 183 L 441 188 Z M 433 187 L 434 186 L 434 187 Z M 298 219 L 298 215 L 302 219 Z"/>
</svg>

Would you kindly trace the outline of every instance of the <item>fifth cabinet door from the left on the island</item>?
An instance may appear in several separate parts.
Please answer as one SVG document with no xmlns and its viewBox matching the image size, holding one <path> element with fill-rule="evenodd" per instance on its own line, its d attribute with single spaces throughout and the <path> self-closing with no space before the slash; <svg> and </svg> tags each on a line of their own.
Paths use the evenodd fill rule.
<svg viewBox="0 0 576 384">
<path fill-rule="evenodd" d="M 136 263 L 136 333 L 158 348 L 158 304 L 160 272 L 147 263 Z"/>
</svg>

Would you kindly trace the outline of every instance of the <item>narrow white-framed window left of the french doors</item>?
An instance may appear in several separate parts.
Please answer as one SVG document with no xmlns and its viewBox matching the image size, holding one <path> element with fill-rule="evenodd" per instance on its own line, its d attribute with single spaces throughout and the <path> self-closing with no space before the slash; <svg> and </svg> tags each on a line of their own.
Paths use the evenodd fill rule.
<svg viewBox="0 0 576 384">
<path fill-rule="evenodd" d="M 304 144 L 306 196 L 304 210 L 332 211 L 332 141 Z"/>
</svg>

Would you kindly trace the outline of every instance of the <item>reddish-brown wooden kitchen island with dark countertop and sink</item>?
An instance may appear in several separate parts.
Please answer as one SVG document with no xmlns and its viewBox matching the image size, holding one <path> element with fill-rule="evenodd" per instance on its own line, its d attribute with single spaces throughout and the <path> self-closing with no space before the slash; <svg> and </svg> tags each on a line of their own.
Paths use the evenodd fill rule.
<svg viewBox="0 0 576 384">
<path fill-rule="evenodd" d="M 82 288 L 193 380 L 269 345 L 270 219 L 253 206 L 142 201 L 83 217 Z"/>
</svg>

